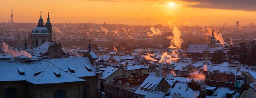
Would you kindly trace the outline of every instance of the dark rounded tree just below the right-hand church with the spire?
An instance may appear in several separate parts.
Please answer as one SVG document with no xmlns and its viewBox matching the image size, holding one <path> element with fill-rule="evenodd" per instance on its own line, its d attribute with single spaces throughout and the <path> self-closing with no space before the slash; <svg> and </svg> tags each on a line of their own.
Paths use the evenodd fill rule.
<svg viewBox="0 0 256 98">
<path fill-rule="evenodd" d="M 221 63 L 221 61 L 223 61 L 224 58 L 225 58 L 225 53 L 221 50 L 216 50 L 212 55 L 211 61 L 215 64 L 218 64 L 218 63 Z"/>
</svg>

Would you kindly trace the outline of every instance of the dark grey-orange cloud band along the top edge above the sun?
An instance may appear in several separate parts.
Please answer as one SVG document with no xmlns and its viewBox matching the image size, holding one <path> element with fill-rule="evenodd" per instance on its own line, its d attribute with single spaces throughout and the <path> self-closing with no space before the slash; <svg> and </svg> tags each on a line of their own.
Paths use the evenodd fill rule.
<svg viewBox="0 0 256 98">
<path fill-rule="evenodd" d="M 105 1 L 105 2 L 138 2 L 155 3 L 165 5 L 167 3 L 177 3 L 179 5 L 206 8 L 206 9 L 227 9 L 256 11 L 256 0 L 87 0 L 87 1 Z"/>
</svg>

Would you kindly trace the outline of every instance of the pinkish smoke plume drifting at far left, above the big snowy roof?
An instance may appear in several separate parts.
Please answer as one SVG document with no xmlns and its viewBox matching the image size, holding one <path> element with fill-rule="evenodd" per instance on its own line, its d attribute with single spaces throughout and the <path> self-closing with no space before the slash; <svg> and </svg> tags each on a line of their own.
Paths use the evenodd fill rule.
<svg viewBox="0 0 256 98">
<path fill-rule="evenodd" d="M 5 42 L 2 43 L 2 47 L 3 47 L 3 50 L 4 50 L 4 53 L 7 53 L 9 55 L 12 55 L 14 57 L 17 57 L 17 56 L 25 56 L 27 58 L 32 58 L 31 55 L 26 52 L 26 51 L 23 51 L 21 50 L 20 52 L 19 51 L 13 51 L 9 48 L 9 45 L 7 45 Z"/>
</svg>

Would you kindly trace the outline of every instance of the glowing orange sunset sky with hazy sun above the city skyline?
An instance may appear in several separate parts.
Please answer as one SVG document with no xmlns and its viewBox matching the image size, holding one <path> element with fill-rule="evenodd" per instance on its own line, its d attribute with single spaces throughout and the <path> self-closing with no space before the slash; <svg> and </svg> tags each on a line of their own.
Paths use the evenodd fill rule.
<svg viewBox="0 0 256 98">
<path fill-rule="evenodd" d="M 256 23 L 256 0 L 0 0 L 0 22 L 235 26 Z"/>
</svg>

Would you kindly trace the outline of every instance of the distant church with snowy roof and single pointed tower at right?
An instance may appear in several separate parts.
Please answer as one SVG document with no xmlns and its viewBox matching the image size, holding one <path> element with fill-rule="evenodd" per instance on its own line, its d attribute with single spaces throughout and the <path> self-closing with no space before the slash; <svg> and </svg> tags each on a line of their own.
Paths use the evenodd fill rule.
<svg viewBox="0 0 256 98">
<path fill-rule="evenodd" d="M 192 44 L 189 43 L 186 47 L 186 55 L 195 55 L 200 58 L 209 58 L 212 54 L 219 50 L 216 46 L 216 39 L 214 37 L 214 31 L 212 28 L 212 36 L 210 37 L 208 44 Z"/>
</svg>

